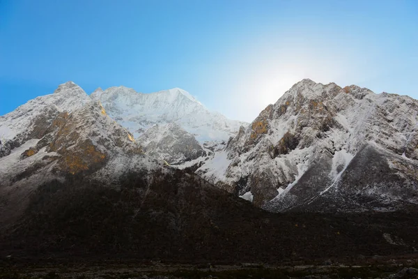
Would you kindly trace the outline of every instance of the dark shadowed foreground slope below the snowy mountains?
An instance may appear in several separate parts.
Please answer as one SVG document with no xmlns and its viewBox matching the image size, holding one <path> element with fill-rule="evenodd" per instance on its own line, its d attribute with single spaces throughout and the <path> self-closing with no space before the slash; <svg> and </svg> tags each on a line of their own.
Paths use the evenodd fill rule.
<svg viewBox="0 0 418 279">
<path fill-rule="evenodd" d="M 175 169 L 130 173 L 110 188 L 69 176 L 36 190 L 1 232 L 1 257 L 50 261 L 288 262 L 416 251 L 407 213 L 273 214 Z"/>
</svg>

